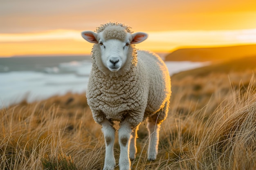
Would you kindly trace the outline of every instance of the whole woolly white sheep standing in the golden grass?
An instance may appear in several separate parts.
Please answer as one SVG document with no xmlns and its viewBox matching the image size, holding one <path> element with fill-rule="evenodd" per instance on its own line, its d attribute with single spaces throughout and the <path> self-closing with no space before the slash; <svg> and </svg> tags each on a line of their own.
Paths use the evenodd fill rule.
<svg viewBox="0 0 256 170">
<path fill-rule="evenodd" d="M 130 160 L 137 152 L 137 130 L 144 119 L 149 133 L 148 160 L 155 160 L 160 124 L 167 117 L 171 97 L 166 65 L 158 55 L 135 49 L 135 44 L 148 35 L 133 33 L 124 24 L 109 22 L 99 26 L 97 32 L 83 31 L 81 35 L 94 43 L 86 97 L 105 138 L 103 170 L 113 170 L 116 165 L 113 121 L 120 122 L 120 170 L 130 170 Z"/>
</svg>

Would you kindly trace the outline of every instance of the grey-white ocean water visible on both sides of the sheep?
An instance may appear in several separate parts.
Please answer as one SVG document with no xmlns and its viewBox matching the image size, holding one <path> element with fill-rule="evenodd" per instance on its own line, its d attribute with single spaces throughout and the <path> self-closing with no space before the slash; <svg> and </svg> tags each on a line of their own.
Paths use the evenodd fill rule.
<svg viewBox="0 0 256 170">
<path fill-rule="evenodd" d="M 165 62 L 170 75 L 208 63 Z M 0 58 L 0 108 L 40 101 L 54 95 L 85 93 L 92 64 L 90 56 Z"/>
</svg>

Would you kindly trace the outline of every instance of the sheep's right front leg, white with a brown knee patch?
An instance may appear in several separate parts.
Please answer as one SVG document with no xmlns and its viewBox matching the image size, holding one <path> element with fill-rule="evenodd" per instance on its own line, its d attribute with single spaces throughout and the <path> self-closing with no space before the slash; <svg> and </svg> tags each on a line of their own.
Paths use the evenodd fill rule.
<svg viewBox="0 0 256 170">
<path fill-rule="evenodd" d="M 118 130 L 119 135 L 119 145 L 120 145 L 120 158 L 119 158 L 119 168 L 120 170 L 130 170 L 130 159 L 129 146 L 130 146 L 130 136 L 132 132 L 132 126 L 126 120 L 122 121 L 120 128 Z"/>
</svg>

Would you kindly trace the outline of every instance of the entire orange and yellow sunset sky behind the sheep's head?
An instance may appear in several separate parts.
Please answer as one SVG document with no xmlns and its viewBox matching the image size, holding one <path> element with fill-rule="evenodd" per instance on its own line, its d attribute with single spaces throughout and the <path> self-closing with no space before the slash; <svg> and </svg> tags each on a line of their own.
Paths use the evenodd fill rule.
<svg viewBox="0 0 256 170">
<path fill-rule="evenodd" d="M 138 49 L 256 44 L 256 0 L 1 0 L 0 57 L 84 55 L 81 31 L 121 22 L 148 40 Z"/>
</svg>

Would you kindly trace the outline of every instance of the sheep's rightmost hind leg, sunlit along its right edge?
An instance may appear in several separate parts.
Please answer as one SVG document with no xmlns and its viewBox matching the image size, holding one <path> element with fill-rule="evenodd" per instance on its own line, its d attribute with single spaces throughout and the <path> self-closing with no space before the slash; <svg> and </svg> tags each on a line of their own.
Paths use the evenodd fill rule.
<svg viewBox="0 0 256 170">
<path fill-rule="evenodd" d="M 148 160 L 154 161 L 157 158 L 158 141 L 159 141 L 159 128 L 160 124 L 148 120 L 147 124 L 149 145 L 148 145 Z"/>
</svg>

